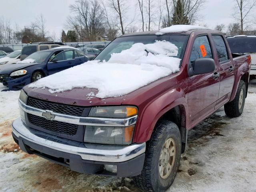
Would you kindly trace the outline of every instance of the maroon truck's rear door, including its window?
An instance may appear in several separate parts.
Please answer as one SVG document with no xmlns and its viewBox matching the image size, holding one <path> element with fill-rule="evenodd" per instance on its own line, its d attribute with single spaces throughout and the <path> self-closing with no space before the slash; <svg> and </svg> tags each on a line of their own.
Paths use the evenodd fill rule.
<svg viewBox="0 0 256 192">
<path fill-rule="evenodd" d="M 212 39 L 220 65 L 220 91 L 215 108 L 219 108 L 228 102 L 234 84 L 234 66 L 231 55 L 228 55 L 224 38 L 220 34 L 212 34 Z"/>
</svg>

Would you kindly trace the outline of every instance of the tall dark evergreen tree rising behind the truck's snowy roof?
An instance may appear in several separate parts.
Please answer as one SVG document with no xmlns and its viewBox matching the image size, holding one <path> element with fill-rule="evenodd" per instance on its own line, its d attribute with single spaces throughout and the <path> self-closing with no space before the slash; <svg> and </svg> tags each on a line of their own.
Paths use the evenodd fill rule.
<svg viewBox="0 0 256 192">
<path fill-rule="evenodd" d="M 172 25 L 187 25 L 189 24 L 188 17 L 185 15 L 182 1 L 177 0 L 174 2 L 174 12 L 172 14 Z"/>
</svg>

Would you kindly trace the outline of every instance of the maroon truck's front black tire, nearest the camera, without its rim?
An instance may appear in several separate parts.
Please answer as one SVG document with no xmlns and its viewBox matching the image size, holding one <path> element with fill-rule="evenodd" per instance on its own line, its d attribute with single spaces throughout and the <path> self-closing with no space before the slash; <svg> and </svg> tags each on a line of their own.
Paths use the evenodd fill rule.
<svg viewBox="0 0 256 192">
<path fill-rule="evenodd" d="M 175 158 L 170 175 L 163 179 L 159 173 L 159 158 L 161 150 L 169 138 L 175 143 Z M 154 132 L 151 139 L 147 143 L 146 156 L 142 174 L 135 176 L 134 182 L 143 191 L 163 192 L 166 191 L 174 182 L 181 154 L 181 137 L 178 126 L 170 121 L 161 121 Z"/>
</svg>

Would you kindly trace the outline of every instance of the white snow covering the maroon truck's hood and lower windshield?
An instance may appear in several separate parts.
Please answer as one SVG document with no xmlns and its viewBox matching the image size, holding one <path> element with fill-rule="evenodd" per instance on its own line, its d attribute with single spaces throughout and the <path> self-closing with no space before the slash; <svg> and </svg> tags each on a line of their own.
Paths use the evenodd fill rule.
<svg viewBox="0 0 256 192">
<path fill-rule="evenodd" d="M 168 56 L 176 52 L 178 48 L 166 41 L 136 43 L 127 50 L 111 54 L 108 62 L 88 61 L 42 78 L 28 87 L 48 88 L 52 94 L 86 87 L 97 89 L 95 96 L 98 98 L 118 97 L 178 72 L 180 59 Z"/>
</svg>

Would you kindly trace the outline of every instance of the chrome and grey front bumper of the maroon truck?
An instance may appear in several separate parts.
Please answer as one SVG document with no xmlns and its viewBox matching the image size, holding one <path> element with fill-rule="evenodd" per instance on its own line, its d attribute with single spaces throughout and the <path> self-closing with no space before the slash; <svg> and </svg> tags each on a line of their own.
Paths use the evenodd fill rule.
<svg viewBox="0 0 256 192">
<path fill-rule="evenodd" d="M 146 143 L 129 146 L 86 144 L 34 130 L 21 118 L 13 122 L 12 135 L 22 151 L 84 174 L 135 176 L 141 174 L 144 164 Z M 106 164 L 116 165 L 117 172 L 104 170 Z"/>
</svg>

